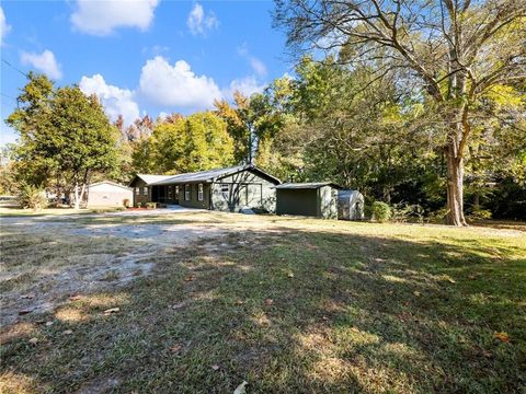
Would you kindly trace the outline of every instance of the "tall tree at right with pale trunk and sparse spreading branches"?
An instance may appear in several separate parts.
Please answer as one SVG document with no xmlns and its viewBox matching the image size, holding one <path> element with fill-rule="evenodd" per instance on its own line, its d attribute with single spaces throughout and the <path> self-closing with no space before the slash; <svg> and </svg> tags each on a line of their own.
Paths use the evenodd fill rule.
<svg viewBox="0 0 526 394">
<path fill-rule="evenodd" d="M 464 172 L 473 115 L 495 85 L 526 78 L 523 0 L 277 0 L 276 26 L 295 49 L 340 49 L 340 61 L 378 78 L 416 78 L 443 120 L 448 223 L 466 225 Z M 411 84 L 411 83 L 407 83 Z"/>
</svg>

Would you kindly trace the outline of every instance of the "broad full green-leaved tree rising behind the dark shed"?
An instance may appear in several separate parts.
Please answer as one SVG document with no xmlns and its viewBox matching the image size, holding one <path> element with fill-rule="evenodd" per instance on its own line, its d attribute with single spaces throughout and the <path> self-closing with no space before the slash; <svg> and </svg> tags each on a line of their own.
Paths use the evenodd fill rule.
<svg viewBox="0 0 526 394">
<path fill-rule="evenodd" d="M 350 70 L 332 57 L 306 57 L 296 74 L 290 106 L 300 119 L 296 144 L 304 144 L 307 178 L 333 179 L 390 204 L 397 187 L 431 164 L 433 150 L 415 124 L 422 104 L 399 93 L 396 81 L 370 81 L 368 68 Z"/>
</svg>

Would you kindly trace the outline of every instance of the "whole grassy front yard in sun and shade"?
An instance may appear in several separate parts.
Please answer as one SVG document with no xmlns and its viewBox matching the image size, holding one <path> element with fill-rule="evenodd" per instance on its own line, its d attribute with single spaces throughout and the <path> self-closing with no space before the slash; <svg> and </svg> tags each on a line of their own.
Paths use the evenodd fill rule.
<svg viewBox="0 0 526 394">
<path fill-rule="evenodd" d="M 135 263 L 152 268 L 132 280 L 117 270 L 57 290 L 76 267 L 140 251 L 152 253 Z M 526 387 L 519 225 L 55 217 L 3 223 L 1 258 L 2 294 L 56 294 L 54 308 L 2 327 L 2 393 L 232 393 L 243 381 L 248 393 Z"/>
</svg>

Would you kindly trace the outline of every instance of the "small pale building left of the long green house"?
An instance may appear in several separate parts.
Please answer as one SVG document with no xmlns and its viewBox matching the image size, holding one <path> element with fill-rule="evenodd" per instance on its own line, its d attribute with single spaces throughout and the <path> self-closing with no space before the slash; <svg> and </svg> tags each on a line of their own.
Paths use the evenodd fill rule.
<svg viewBox="0 0 526 394">
<path fill-rule="evenodd" d="M 95 182 L 88 185 L 84 194 L 84 202 L 88 208 L 92 207 L 124 207 L 124 200 L 132 204 L 134 193 L 129 187 L 111 181 Z"/>
</svg>

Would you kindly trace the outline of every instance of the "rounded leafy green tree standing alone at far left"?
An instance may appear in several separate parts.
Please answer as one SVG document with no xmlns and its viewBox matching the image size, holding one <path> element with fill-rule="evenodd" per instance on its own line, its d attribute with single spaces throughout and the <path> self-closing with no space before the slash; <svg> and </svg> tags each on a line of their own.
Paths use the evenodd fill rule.
<svg viewBox="0 0 526 394">
<path fill-rule="evenodd" d="M 87 97 L 76 85 L 54 90 L 43 76 L 28 80 L 21 107 L 8 118 L 21 135 L 19 161 L 64 176 L 75 187 L 79 209 L 90 175 L 115 165 L 117 131 L 95 96 Z M 33 178 L 35 186 L 43 183 Z"/>
</svg>

